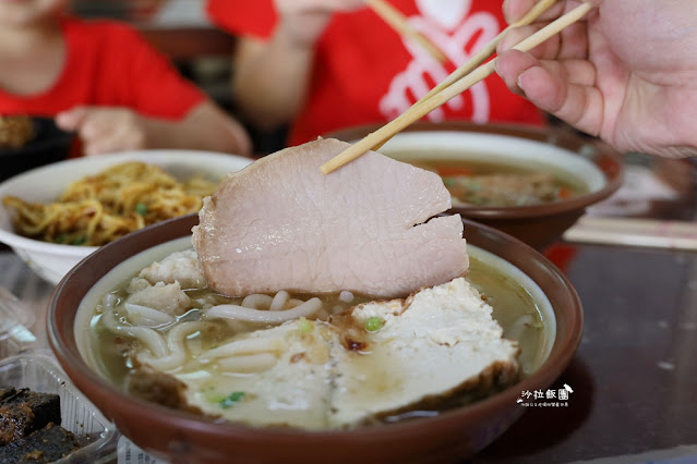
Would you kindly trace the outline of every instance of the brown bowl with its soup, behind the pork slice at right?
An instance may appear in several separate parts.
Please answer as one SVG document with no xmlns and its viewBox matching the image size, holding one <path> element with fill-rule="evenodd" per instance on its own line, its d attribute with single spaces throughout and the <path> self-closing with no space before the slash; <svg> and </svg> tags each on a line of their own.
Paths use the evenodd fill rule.
<svg viewBox="0 0 697 464">
<path fill-rule="evenodd" d="M 334 134 L 356 142 L 377 126 Z M 382 148 L 387 155 L 437 172 L 462 217 L 544 249 L 586 208 L 622 185 L 618 154 L 565 130 L 471 123 L 418 123 Z"/>
</svg>

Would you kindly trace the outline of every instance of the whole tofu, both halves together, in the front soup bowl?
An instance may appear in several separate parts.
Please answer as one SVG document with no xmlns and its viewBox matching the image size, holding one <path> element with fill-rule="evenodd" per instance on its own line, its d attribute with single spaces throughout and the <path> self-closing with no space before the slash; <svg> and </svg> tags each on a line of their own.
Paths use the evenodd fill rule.
<svg viewBox="0 0 697 464">
<path fill-rule="evenodd" d="M 368 331 L 371 317 L 382 328 Z M 491 306 L 457 278 L 406 301 L 359 305 L 331 322 L 286 322 L 242 335 L 232 341 L 237 347 L 216 349 L 243 361 L 241 346 L 257 346 L 250 353 L 265 357 L 255 358 L 254 371 L 224 373 L 219 357 L 175 377 L 188 386 L 191 405 L 211 415 L 253 426 L 341 429 L 515 382 L 519 347 L 502 334 Z M 221 407 L 217 399 L 232 392 L 244 395 Z"/>
</svg>

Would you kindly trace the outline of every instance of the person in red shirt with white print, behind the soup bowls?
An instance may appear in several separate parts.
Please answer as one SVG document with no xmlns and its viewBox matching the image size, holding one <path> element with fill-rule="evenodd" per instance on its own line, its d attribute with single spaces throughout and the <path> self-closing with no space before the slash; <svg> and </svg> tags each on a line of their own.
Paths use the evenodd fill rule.
<svg viewBox="0 0 697 464">
<path fill-rule="evenodd" d="M 291 123 L 289 145 L 406 111 L 506 23 L 491 0 L 389 0 L 447 57 L 388 26 L 363 0 L 208 0 L 209 17 L 240 36 L 233 93 L 262 130 Z M 428 117 L 541 125 L 544 115 L 496 75 Z"/>
</svg>

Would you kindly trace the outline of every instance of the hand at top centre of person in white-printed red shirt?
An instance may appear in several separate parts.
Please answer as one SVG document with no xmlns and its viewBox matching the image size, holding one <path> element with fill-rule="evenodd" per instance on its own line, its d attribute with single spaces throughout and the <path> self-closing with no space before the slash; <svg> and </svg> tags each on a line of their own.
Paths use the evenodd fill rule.
<svg viewBox="0 0 697 464">
<path fill-rule="evenodd" d="M 280 19 L 280 30 L 291 41 L 312 46 L 332 15 L 364 7 L 363 0 L 274 0 Z"/>
</svg>

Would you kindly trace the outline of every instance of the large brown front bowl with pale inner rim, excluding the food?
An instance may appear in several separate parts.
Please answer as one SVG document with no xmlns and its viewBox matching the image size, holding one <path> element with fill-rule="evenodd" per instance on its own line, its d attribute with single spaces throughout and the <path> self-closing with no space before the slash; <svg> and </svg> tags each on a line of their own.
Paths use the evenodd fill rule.
<svg viewBox="0 0 697 464">
<path fill-rule="evenodd" d="M 514 293 L 539 310 L 537 323 L 525 323 L 540 330 L 527 343 L 519 315 L 507 321 L 494 315 L 506 337 L 521 343 L 525 375 L 517 383 L 473 403 L 455 402 L 442 411 L 416 411 L 341 430 L 255 426 L 156 404 L 127 392 L 118 374 L 123 366 L 115 368 L 113 358 L 95 345 L 95 308 L 106 302 L 109 289 L 128 282 L 140 269 L 191 248 L 196 223 L 195 215 L 165 221 L 101 247 L 68 273 L 49 303 L 49 342 L 68 376 L 124 436 L 155 457 L 187 463 L 458 462 L 519 418 L 525 411 L 517 402 L 521 392 L 552 386 L 580 340 L 582 308 L 567 278 L 522 242 L 464 219 L 472 282 L 488 295 L 495 294 L 497 302 L 505 291 L 496 292 L 513 285 Z M 272 305 L 274 296 L 278 295 L 266 295 Z"/>
</svg>

